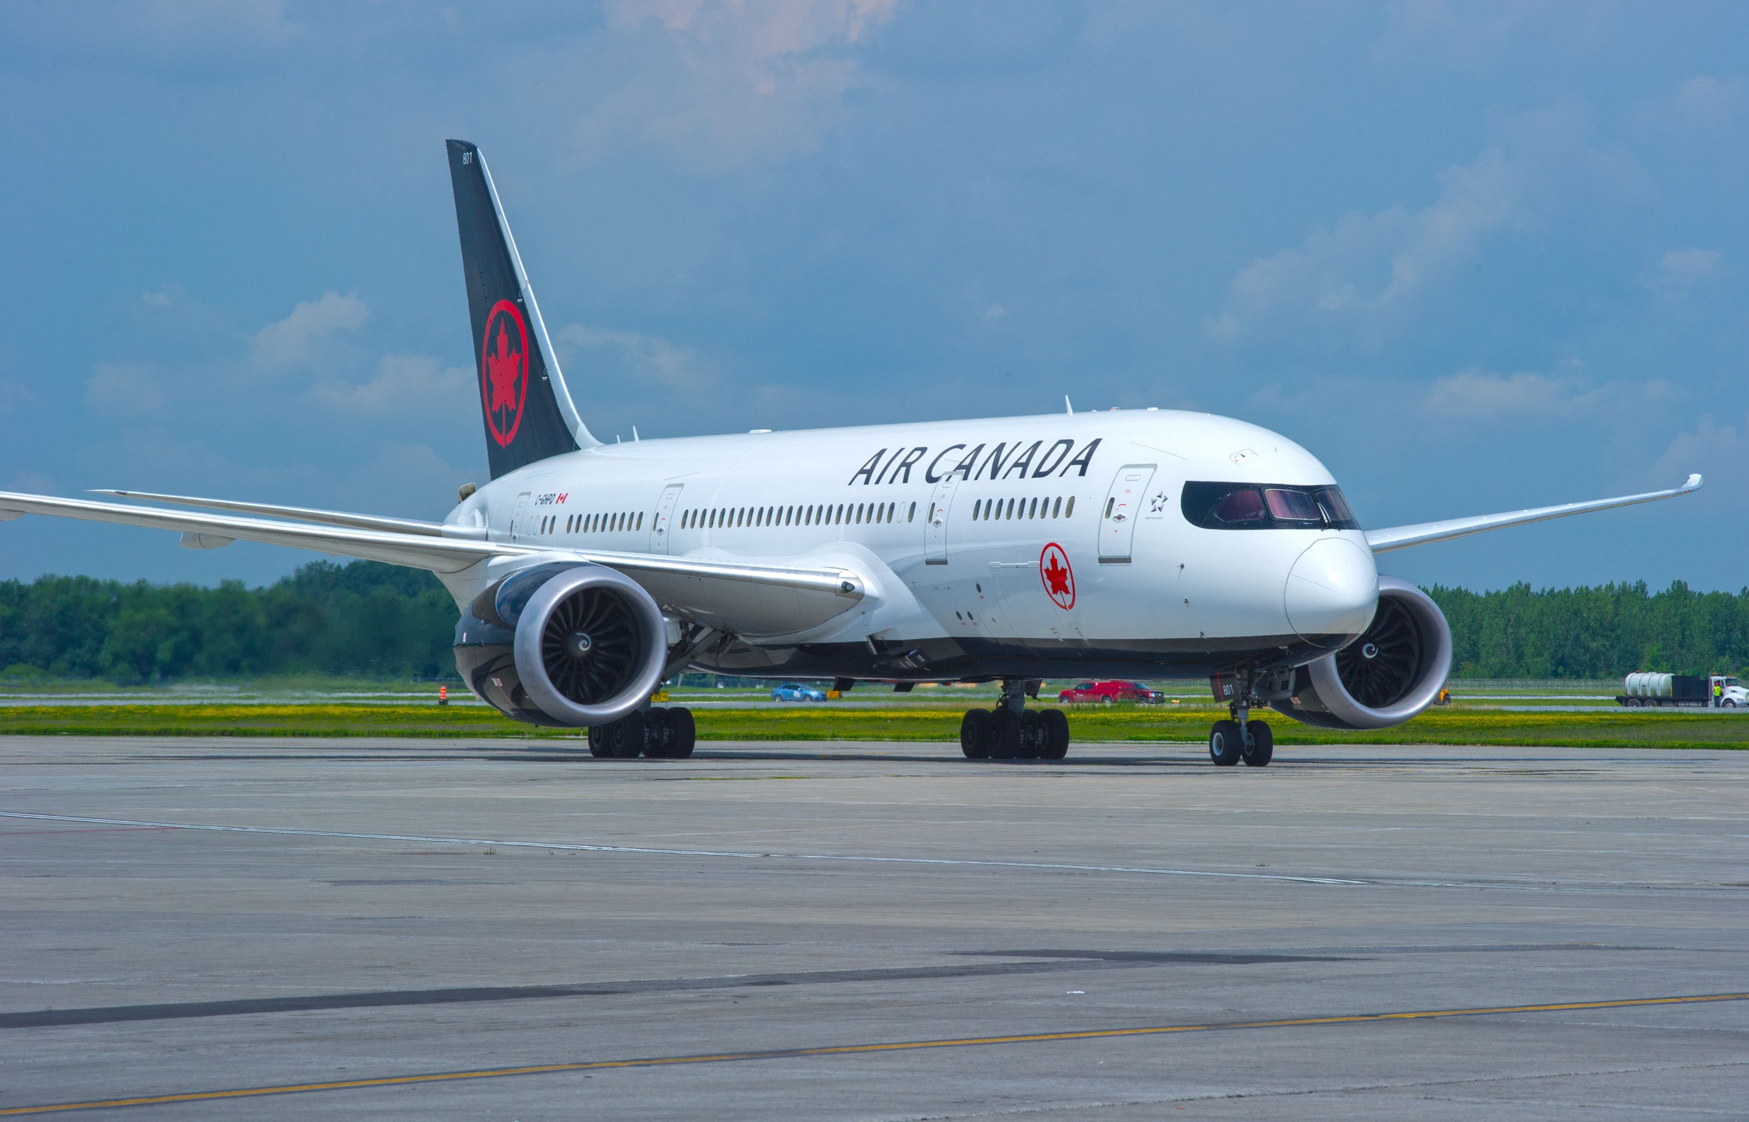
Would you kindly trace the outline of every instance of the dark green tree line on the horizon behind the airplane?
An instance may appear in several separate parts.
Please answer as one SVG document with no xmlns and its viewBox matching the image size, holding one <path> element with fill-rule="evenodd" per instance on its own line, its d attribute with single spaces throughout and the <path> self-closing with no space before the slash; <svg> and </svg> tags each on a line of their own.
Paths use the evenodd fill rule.
<svg viewBox="0 0 1749 1122">
<path fill-rule="evenodd" d="M 1427 590 L 1452 621 L 1457 677 L 1705 674 L 1749 663 L 1749 588 L 1676 581 Z M 0 681 L 161 683 L 278 674 L 455 677 L 455 602 L 429 572 L 311 562 L 264 588 L 87 576 L 0 581 Z"/>
</svg>

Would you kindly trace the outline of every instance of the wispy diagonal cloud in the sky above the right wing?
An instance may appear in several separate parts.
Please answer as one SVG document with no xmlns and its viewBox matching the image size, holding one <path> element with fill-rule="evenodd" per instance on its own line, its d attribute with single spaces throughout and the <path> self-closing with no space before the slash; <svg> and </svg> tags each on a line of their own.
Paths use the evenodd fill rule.
<svg viewBox="0 0 1749 1122">
<path fill-rule="evenodd" d="M 1205 327 L 1237 340 L 1282 319 L 1376 326 L 1478 257 L 1490 236 L 1532 228 L 1574 172 L 1595 180 L 1620 173 L 1613 163 L 1585 144 L 1572 114 L 1516 117 L 1499 144 L 1439 172 L 1439 194 L 1425 207 L 1350 212 L 1242 268 Z"/>
</svg>

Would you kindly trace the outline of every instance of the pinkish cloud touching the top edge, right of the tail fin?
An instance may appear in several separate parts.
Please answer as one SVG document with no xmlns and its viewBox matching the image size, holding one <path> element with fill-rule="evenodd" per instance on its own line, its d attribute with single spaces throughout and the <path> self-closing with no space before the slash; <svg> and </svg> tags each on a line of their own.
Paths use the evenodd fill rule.
<svg viewBox="0 0 1749 1122">
<path fill-rule="evenodd" d="M 845 119 L 869 77 L 847 51 L 894 18 L 897 0 L 610 0 L 607 25 L 644 37 L 637 77 L 577 124 L 586 149 L 621 131 L 703 170 L 808 151 Z"/>
</svg>

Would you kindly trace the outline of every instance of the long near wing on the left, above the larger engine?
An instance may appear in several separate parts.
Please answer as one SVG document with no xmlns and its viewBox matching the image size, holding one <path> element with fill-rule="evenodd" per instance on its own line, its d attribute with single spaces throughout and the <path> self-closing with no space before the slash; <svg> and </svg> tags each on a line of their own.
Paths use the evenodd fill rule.
<svg viewBox="0 0 1749 1122">
<path fill-rule="evenodd" d="M 0 492 L 0 522 L 21 515 L 52 515 L 56 518 L 180 530 L 184 544 L 194 548 L 213 548 L 231 541 L 259 541 L 432 572 L 460 572 L 493 557 L 537 553 L 574 557 L 579 562 L 619 569 L 644 585 L 658 602 L 673 604 L 712 627 L 745 635 L 787 635 L 806 630 L 850 611 L 866 592 L 861 574 L 838 567 L 792 569 L 652 553 L 530 546 L 514 541 L 484 541 L 483 530 L 442 523 L 427 523 L 439 527 L 439 536 L 432 537 L 423 532 L 198 515 L 91 499 Z"/>
</svg>

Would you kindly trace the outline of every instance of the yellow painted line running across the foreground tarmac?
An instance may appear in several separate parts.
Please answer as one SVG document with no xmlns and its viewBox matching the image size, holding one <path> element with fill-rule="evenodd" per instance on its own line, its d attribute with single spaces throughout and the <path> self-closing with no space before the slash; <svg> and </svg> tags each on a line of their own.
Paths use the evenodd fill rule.
<svg viewBox="0 0 1749 1122">
<path fill-rule="evenodd" d="M 210 1099 L 255 1099 L 269 1094 L 304 1094 L 311 1090 L 355 1090 L 359 1087 L 406 1087 L 409 1083 L 451 1083 L 490 1080 L 511 1075 L 551 1075 L 556 1071 L 603 1071 L 607 1068 L 672 1068 L 679 1064 L 721 1064 L 749 1059 L 796 1059 L 806 1055 L 855 1055 L 864 1052 L 915 1052 L 920 1048 L 967 1048 L 999 1043 L 1048 1043 L 1056 1040 L 1114 1040 L 1119 1036 L 1161 1036 L 1167 1033 L 1214 1033 L 1231 1029 L 1291 1029 L 1315 1024 L 1359 1024 L 1368 1020 L 1432 1020 L 1438 1017 L 1490 1017 L 1501 1013 L 1560 1013 L 1590 1008 L 1634 1008 L 1642 1005 L 1702 1005 L 1709 1001 L 1749 1001 L 1742 994 L 1688 994 L 1677 998 L 1620 998 L 1614 1001 L 1564 1001 L 1558 1005 L 1494 1005 L 1483 1008 L 1429 1008 L 1404 1013 L 1341 1013 L 1334 1017 L 1293 1017 L 1287 1020 L 1216 1020 L 1209 1024 L 1158 1024 L 1135 1029 L 1084 1029 L 1077 1033 L 1027 1033 L 1023 1036 L 957 1036 L 951 1040 L 899 1040 L 890 1043 L 850 1043 L 822 1048 L 771 1048 L 766 1052 L 707 1052 L 700 1055 L 654 1055 L 645 1059 L 593 1059 L 565 1064 L 528 1064 L 523 1068 L 476 1068 L 472 1071 L 427 1071 L 423 1075 L 385 1075 L 366 1080 L 327 1083 L 280 1083 L 275 1087 L 236 1087 L 231 1090 L 187 1090 L 150 1094 L 131 1099 L 91 1099 L 86 1103 L 45 1103 L 42 1106 L 0 1108 L 0 1117 L 47 1115 L 68 1110 L 114 1110 L 117 1106 L 164 1106 L 170 1103 L 205 1103 Z"/>
</svg>

